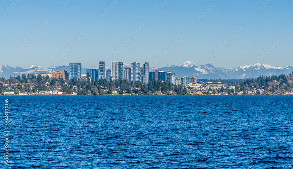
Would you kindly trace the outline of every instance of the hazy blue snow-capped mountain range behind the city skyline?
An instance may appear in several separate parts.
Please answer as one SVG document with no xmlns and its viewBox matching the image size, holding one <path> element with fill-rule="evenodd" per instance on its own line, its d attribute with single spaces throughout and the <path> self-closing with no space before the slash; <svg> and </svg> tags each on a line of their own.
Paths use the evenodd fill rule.
<svg viewBox="0 0 293 169">
<path fill-rule="evenodd" d="M 130 65 L 124 64 L 125 67 L 130 67 Z M 181 66 L 170 66 L 170 71 L 176 73 L 177 77 L 183 76 L 197 76 L 199 79 L 243 79 L 243 78 L 252 78 L 258 77 L 261 75 L 270 76 L 270 75 L 279 75 L 279 74 L 289 74 L 293 71 L 293 65 L 287 67 L 274 67 L 271 65 L 263 64 L 254 64 L 246 66 L 238 66 L 232 69 L 225 69 L 222 67 L 214 67 L 212 64 L 207 63 L 206 65 L 194 65 L 191 61 L 184 62 Z M 49 68 L 45 67 L 35 67 L 34 65 L 30 66 L 27 69 L 21 67 L 10 67 L 8 65 L 0 64 L 0 77 L 8 79 L 10 76 L 17 76 L 21 74 L 28 74 L 30 71 L 38 73 L 48 73 L 56 72 L 57 70 L 67 70 L 69 71 L 69 66 L 51 66 Z M 154 68 L 151 67 L 150 71 L 154 72 L 156 70 L 163 70 L 168 72 L 168 67 Z M 86 68 L 82 68 L 82 74 L 86 74 Z"/>
</svg>

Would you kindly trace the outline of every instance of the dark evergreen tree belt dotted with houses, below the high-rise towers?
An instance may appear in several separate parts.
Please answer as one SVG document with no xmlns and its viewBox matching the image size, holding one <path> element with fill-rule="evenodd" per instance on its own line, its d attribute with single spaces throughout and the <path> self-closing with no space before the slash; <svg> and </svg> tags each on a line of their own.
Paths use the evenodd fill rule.
<svg viewBox="0 0 293 169">
<path fill-rule="evenodd" d="M 68 80 L 68 77 L 63 78 L 49 78 L 42 77 L 40 74 L 38 76 L 26 76 L 22 74 L 21 76 L 10 77 L 8 80 L 4 78 L 1 79 L 2 83 L 26 83 L 24 87 L 18 85 L 13 89 L 23 89 L 26 92 L 37 92 L 37 91 L 45 91 L 52 90 L 54 85 L 60 85 L 60 89 L 58 91 L 63 92 L 63 94 L 71 94 L 71 92 L 76 92 L 78 95 L 87 95 L 87 94 L 114 94 L 116 90 L 117 93 L 123 94 L 176 94 L 183 95 L 187 94 L 187 89 L 182 87 L 181 85 L 173 85 L 168 81 L 158 81 L 158 80 L 150 80 L 148 84 L 142 84 L 142 82 L 129 82 L 128 80 L 119 78 L 118 80 L 107 81 L 106 79 L 100 78 L 95 81 L 87 78 L 86 80 L 81 80 L 77 78 L 72 78 Z M 32 89 L 31 86 L 33 86 Z M 47 87 L 46 87 L 47 85 Z M 5 89 L 6 87 L 1 85 L 1 89 Z"/>
</svg>

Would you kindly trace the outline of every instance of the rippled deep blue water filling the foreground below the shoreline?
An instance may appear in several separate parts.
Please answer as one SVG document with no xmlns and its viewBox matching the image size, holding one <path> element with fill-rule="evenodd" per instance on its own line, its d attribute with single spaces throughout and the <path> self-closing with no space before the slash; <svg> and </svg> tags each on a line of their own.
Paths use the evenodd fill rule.
<svg viewBox="0 0 293 169">
<path fill-rule="evenodd" d="M 293 96 L 0 98 L 1 168 L 293 168 Z"/>
</svg>

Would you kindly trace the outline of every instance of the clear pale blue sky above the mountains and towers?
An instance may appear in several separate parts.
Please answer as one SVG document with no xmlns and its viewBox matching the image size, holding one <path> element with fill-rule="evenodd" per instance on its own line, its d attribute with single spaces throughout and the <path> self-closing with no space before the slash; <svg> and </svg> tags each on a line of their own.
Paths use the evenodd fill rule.
<svg viewBox="0 0 293 169">
<path fill-rule="evenodd" d="M 265 57 L 258 59 L 262 64 L 293 64 L 293 1 L 113 2 L 1 0 L 0 64 L 28 68 L 79 62 L 82 67 L 98 68 L 99 61 L 105 61 L 107 67 L 111 61 L 122 61 L 149 62 L 159 68 L 165 67 L 166 62 L 182 65 L 190 60 L 195 65 L 210 62 L 216 67 L 233 68 L 251 65 L 262 53 Z M 231 33 L 236 36 L 228 36 Z M 276 41 L 278 37 L 280 40 Z M 127 45 L 114 55 L 117 45 L 123 47 L 122 41 L 127 40 Z M 225 40 L 225 47 L 220 47 Z M 174 43 L 172 48 L 170 43 Z M 266 48 L 268 45 L 271 49 Z M 220 52 L 211 57 L 215 48 Z M 67 49 L 70 51 L 58 60 L 57 55 Z M 164 50 L 168 54 L 154 62 Z"/>
</svg>

